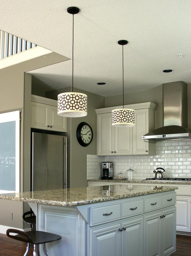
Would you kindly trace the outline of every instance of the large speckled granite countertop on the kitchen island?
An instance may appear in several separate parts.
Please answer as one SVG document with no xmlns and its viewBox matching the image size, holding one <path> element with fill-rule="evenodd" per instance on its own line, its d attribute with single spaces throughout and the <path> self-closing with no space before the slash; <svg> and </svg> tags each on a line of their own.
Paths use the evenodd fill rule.
<svg viewBox="0 0 191 256">
<path fill-rule="evenodd" d="M 23 193 L 0 194 L 0 199 L 50 204 L 58 206 L 77 206 L 95 202 L 136 197 L 153 193 L 173 191 L 178 187 L 157 187 L 149 185 L 106 185 L 97 187 L 77 187 Z M 108 190 L 108 191 L 107 191 Z M 105 195 L 107 191 L 108 195 Z"/>
</svg>

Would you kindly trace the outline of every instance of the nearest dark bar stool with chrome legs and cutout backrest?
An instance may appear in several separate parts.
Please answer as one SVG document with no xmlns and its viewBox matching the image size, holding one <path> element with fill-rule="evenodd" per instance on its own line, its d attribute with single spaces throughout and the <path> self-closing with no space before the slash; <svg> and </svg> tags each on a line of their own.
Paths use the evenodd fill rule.
<svg viewBox="0 0 191 256">
<path fill-rule="evenodd" d="M 10 233 L 14 233 L 17 235 L 10 235 Z M 39 252 L 39 244 L 43 245 L 43 250 L 46 256 L 50 256 L 46 249 L 46 243 L 50 243 L 53 241 L 60 240 L 62 237 L 60 235 L 51 234 L 43 231 L 21 231 L 17 229 L 7 229 L 7 236 L 16 239 L 22 242 L 27 243 L 27 250 L 24 256 L 29 254 L 30 246 L 33 244 L 33 256 L 40 256 Z"/>
</svg>

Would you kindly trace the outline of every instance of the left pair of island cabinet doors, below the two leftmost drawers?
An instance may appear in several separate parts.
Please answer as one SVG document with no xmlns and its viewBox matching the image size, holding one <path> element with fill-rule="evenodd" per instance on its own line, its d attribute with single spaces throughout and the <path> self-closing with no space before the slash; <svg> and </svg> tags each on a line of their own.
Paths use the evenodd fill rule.
<svg viewBox="0 0 191 256">
<path fill-rule="evenodd" d="M 90 256 L 143 256 L 143 217 L 90 230 Z"/>
</svg>

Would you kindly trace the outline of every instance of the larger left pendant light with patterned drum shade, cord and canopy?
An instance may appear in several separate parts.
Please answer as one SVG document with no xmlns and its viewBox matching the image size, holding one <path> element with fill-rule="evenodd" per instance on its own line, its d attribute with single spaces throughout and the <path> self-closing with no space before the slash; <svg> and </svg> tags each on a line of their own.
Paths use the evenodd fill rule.
<svg viewBox="0 0 191 256">
<path fill-rule="evenodd" d="M 67 12 L 77 14 L 78 7 L 69 7 Z M 74 24 L 74 22 L 73 22 Z M 74 27 L 74 26 L 73 26 Z M 87 116 L 87 95 L 81 92 L 73 92 L 73 41 L 72 41 L 72 92 L 63 92 L 58 95 L 58 115 L 66 117 Z"/>
</svg>

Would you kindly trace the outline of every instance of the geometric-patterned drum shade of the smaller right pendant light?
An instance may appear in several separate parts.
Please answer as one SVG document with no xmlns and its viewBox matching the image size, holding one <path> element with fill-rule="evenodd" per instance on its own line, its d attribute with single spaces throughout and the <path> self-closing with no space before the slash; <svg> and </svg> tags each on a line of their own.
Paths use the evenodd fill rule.
<svg viewBox="0 0 191 256">
<path fill-rule="evenodd" d="M 112 110 L 112 126 L 132 127 L 135 126 L 135 110 L 130 108 L 118 108 Z"/>
</svg>

